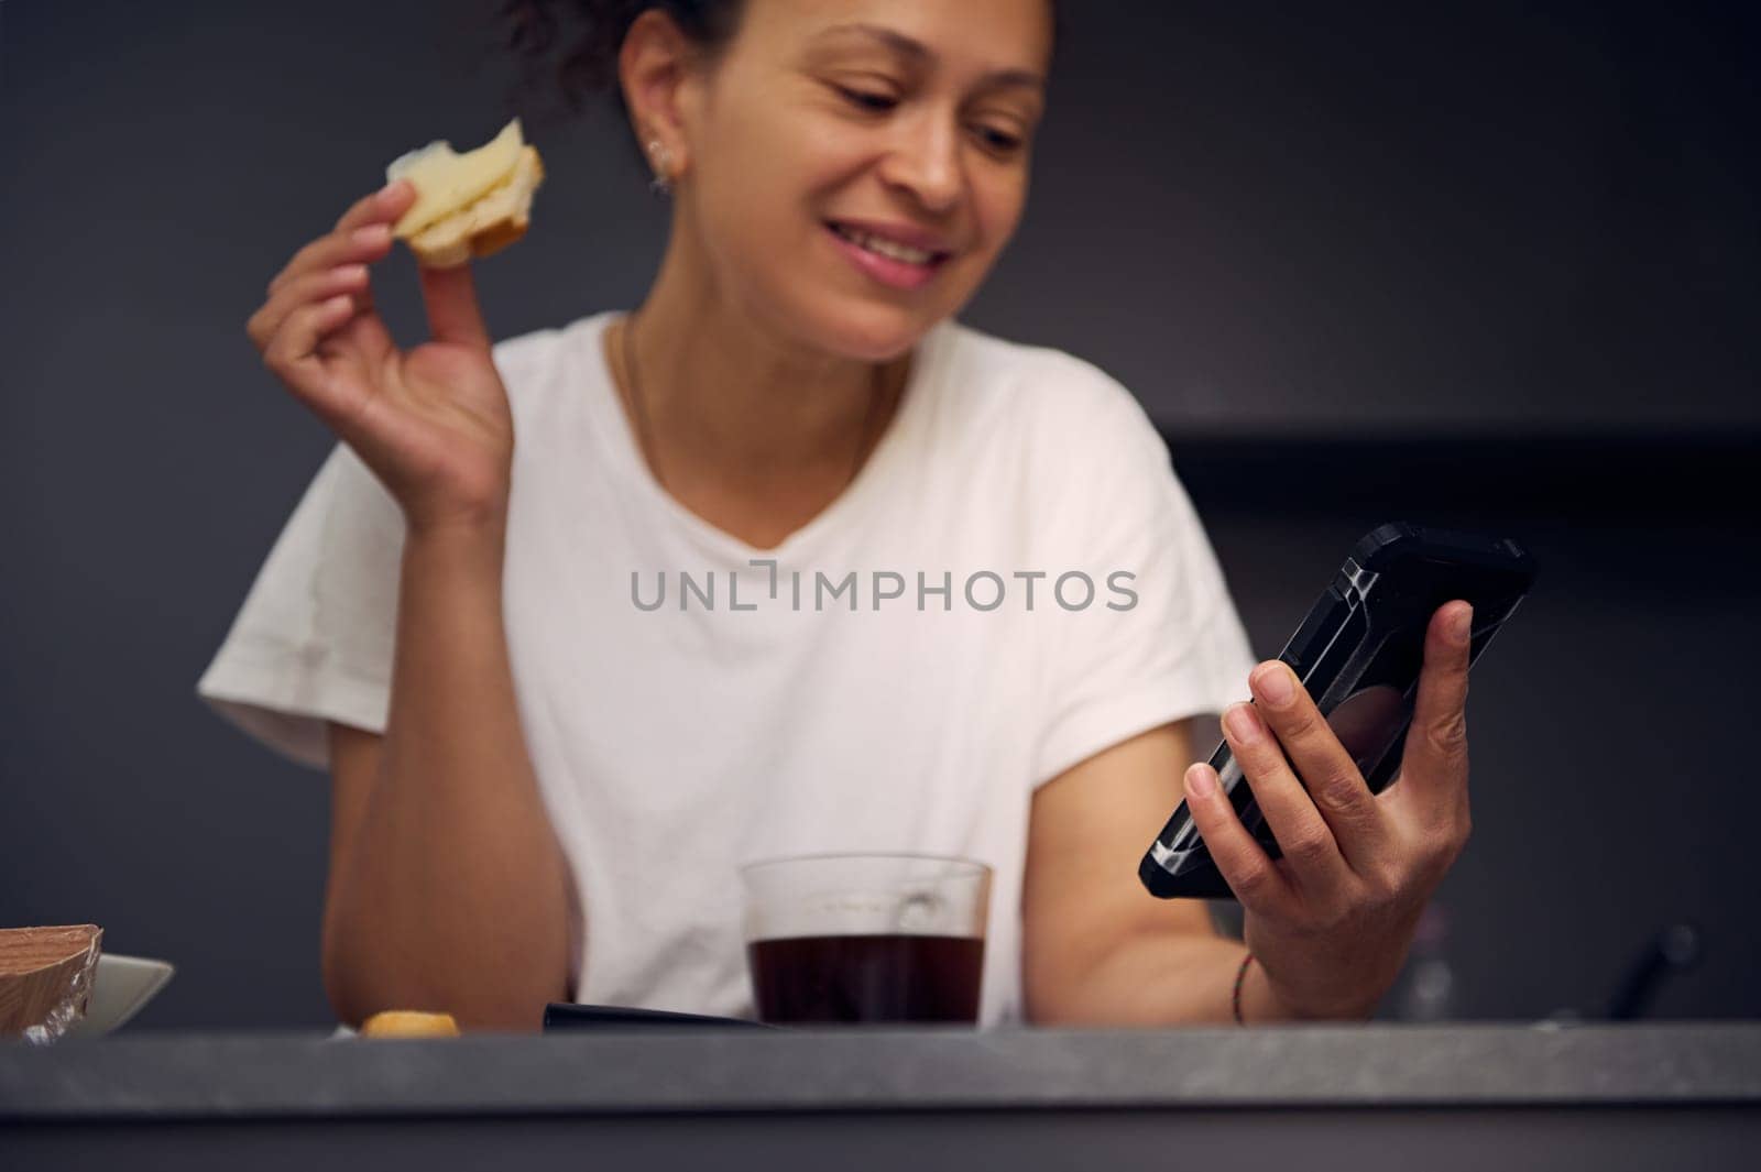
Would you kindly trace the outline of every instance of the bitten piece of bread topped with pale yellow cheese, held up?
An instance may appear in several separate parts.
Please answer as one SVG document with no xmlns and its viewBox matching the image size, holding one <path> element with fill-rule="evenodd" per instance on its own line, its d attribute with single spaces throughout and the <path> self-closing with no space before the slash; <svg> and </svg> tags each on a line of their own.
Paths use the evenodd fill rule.
<svg viewBox="0 0 1761 1172">
<path fill-rule="evenodd" d="M 419 264 L 451 269 L 527 234 L 544 164 L 514 118 L 463 155 L 438 139 L 400 155 L 386 167 L 386 183 L 398 179 L 416 185 L 416 202 L 398 216 L 391 234 L 410 246 Z"/>
</svg>

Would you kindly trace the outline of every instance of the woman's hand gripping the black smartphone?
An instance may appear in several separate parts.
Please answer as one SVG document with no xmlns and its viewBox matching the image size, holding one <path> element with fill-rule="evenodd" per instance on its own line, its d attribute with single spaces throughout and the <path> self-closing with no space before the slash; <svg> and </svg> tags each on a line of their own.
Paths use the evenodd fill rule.
<svg viewBox="0 0 1761 1172">
<path fill-rule="evenodd" d="M 1470 621 L 1460 600 L 1432 616 L 1400 774 L 1382 794 L 1370 794 L 1286 663 L 1254 669 L 1256 702 L 1224 714 L 1224 736 L 1282 859 L 1247 832 L 1210 765 L 1187 771 L 1192 818 L 1242 901 L 1243 936 L 1284 1015 L 1368 1017 L 1467 843 Z"/>
</svg>

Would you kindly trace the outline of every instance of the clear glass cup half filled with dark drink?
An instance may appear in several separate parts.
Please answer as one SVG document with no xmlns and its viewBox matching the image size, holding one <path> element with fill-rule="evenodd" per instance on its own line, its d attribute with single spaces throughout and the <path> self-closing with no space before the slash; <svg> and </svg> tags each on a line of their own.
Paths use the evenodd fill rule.
<svg viewBox="0 0 1761 1172">
<path fill-rule="evenodd" d="M 759 1021 L 977 1024 L 991 869 L 805 855 L 740 869 Z"/>
</svg>

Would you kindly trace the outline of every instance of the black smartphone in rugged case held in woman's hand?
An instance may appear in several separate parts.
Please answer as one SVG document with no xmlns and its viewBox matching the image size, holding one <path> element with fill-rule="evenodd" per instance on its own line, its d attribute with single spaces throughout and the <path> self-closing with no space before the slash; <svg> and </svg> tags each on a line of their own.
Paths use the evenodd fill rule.
<svg viewBox="0 0 1761 1172">
<path fill-rule="evenodd" d="M 1472 663 L 1534 577 L 1534 558 L 1507 537 L 1391 523 L 1351 549 L 1278 658 L 1303 681 L 1374 794 L 1400 773 L 1437 607 L 1455 598 L 1472 604 Z M 1277 859 L 1278 843 L 1227 741 L 1210 764 L 1242 825 Z M 1143 855 L 1138 878 L 1160 899 L 1234 897 L 1183 801 Z"/>
</svg>

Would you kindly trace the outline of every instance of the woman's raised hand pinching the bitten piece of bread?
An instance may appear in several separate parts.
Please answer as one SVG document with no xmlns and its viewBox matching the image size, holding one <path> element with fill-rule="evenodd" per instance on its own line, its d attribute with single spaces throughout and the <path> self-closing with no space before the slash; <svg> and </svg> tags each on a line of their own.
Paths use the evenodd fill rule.
<svg viewBox="0 0 1761 1172">
<path fill-rule="evenodd" d="M 417 267 L 433 338 L 398 350 L 368 266 L 391 252 L 409 181 L 356 202 L 269 282 L 245 333 L 262 363 L 356 450 L 412 528 L 505 519 L 514 424 L 468 264 Z"/>
</svg>

